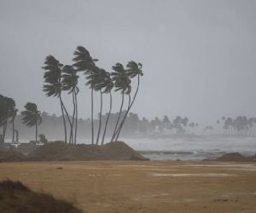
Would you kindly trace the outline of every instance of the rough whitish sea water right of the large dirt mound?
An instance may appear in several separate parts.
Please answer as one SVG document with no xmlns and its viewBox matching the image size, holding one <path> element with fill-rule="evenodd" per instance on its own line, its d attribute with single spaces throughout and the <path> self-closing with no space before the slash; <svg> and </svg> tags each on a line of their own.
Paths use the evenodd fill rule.
<svg viewBox="0 0 256 213">
<path fill-rule="evenodd" d="M 246 156 L 256 153 L 254 137 L 203 136 L 196 138 L 125 139 L 127 144 L 154 160 L 201 160 L 218 158 L 224 153 L 242 153 Z"/>
</svg>

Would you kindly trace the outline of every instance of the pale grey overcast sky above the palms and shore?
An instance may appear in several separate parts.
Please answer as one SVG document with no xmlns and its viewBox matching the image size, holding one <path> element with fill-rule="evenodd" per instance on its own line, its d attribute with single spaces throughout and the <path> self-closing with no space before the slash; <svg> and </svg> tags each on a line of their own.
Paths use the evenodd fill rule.
<svg viewBox="0 0 256 213">
<path fill-rule="evenodd" d="M 0 94 L 19 109 L 32 101 L 60 115 L 59 102 L 42 92 L 41 67 L 47 55 L 71 63 L 83 45 L 107 71 L 143 63 L 131 110 L 140 117 L 256 117 L 255 11 L 253 0 L 0 0 Z M 88 118 L 90 91 L 80 82 L 79 116 Z M 114 111 L 120 101 L 115 95 Z"/>
</svg>

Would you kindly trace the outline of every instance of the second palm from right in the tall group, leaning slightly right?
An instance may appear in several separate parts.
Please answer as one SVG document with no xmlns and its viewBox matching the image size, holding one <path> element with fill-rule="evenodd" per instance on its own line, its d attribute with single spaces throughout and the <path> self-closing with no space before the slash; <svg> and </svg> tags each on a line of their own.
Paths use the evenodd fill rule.
<svg viewBox="0 0 256 213">
<path fill-rule="evenodd" d="M 117 122 L 115 124 L 114 130 L 113 130 L 113 136 L 111 138 L 111 141 L 113 141 L 114 137 L 117 135 L 118 130 L 118 124 L 119 119 L 122 113 L 123 105 L 124 105 L 124 96 L 131 93 L 131 79 L 129 78 L 127 71 L 125 70 L 124 66 L 120 63 L 116 63 L 115 66 L 112 67 L 113 71 L 111 75 L 113 76 L 113 85 L 115 87 L 115 91 L 120 91 L 122 95 L 122 102 L 119 109 L 119 117 L 117 119 Z"/>
</svg>

